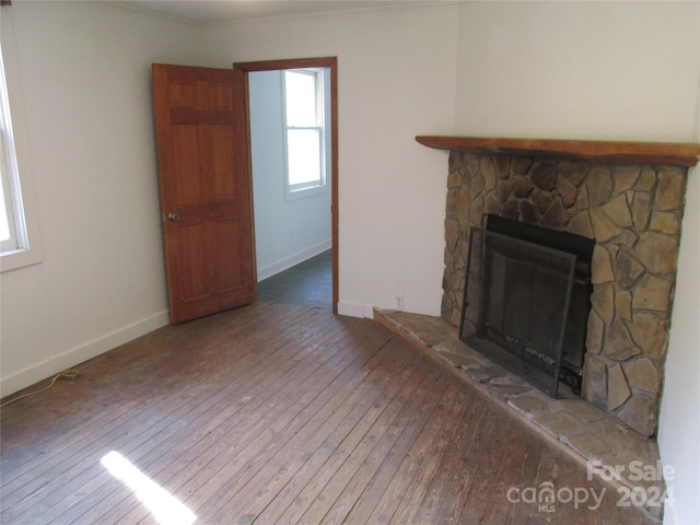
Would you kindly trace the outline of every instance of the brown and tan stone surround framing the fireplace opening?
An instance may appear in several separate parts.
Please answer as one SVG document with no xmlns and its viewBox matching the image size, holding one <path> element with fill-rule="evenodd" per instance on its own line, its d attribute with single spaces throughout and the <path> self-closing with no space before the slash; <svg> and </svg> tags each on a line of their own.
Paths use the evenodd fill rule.
<svg viewBox="0 0 700 525">
<path fill-rule="evenodd" d="M 452 151 L 442 318 L 459 326 L 469 229 L 497 214 L 596 242 L 583 397 L 655 433 L 686 167 Z"/>
</svg>

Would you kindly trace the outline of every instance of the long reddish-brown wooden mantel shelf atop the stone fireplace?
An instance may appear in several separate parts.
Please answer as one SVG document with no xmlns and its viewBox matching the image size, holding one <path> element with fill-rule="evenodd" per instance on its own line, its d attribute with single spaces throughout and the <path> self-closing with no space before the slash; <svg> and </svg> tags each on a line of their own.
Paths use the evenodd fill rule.
<svg viewBox="0 0 700 525">
<path fill-rule="evenodd" d="M 658 164 L 690 167 L 698 164 L 700 159 L 700 144 L 692 143 L 443 136 L 418 136 L 416 140 L 439 150 L 573 159 L 600 164 Z"/>
</svg>

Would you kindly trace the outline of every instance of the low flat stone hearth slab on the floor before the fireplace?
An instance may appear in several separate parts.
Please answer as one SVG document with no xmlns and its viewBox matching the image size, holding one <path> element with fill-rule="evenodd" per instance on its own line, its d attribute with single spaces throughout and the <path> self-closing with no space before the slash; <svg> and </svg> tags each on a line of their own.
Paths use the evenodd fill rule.
<svg viewBox="0 0 700 525">
<path fill-rule="evenodd" d="M 612 487 L 640 487 L 644 493 L 656 487 L 654 491 L 664 492 L 663 481 L 638 479 L 639 470 L 629 468 L 631 464 L 657 468 L 656 441 L 573 395 L 565 385 L 560 386 L 557 399 L 551 398 L 462 342 L 457 328 L 442 318 L 378 308 L 374 318 L 454 370 L 582 465 L 596 465 L 592 470 Z M 615 471 L 620 475 L 614 477 Z M 644 510 L 661 520 L 661 508 Z"/>
</svg>

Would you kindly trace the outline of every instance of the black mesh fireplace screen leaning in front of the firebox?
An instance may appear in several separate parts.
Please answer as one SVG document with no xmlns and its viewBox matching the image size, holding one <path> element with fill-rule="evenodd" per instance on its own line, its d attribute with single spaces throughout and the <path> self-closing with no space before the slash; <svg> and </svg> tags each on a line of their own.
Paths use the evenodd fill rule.
<svg viewBox="0 0 700 525">
<path fill-rule="evenodd" d="M 562 363 L 579 377 L 583 365 L 587 311 L 579 304 L 588 292 L 574 287 L 576 261 L 569 252 L 472 228 L 459 338 L 556 397 Z M 572 296 L 580 299 L 573 307 Z M 583 318 L 573 334 L 570 314 Z"/>
</svg>

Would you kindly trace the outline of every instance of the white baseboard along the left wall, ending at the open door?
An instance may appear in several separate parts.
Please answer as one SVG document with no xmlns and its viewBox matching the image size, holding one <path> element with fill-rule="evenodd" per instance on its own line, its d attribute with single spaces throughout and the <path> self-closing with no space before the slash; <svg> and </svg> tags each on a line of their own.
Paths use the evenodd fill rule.
<svg viewBox="0 0 700 525">
<path fill-rule="evenodd" d="M 141 337 L 149 331 L 170 323 L 167 311 L 147 317 L 118 330 L 94 339 L 85 345 L 54 355 L 40 363 L 0 378 L 0 396 L 5 397 L 22 388 L 26 388 L 42 380 L 50 377 L 62 370 L 75 366 L 101 353 Z"/>
</svg>

